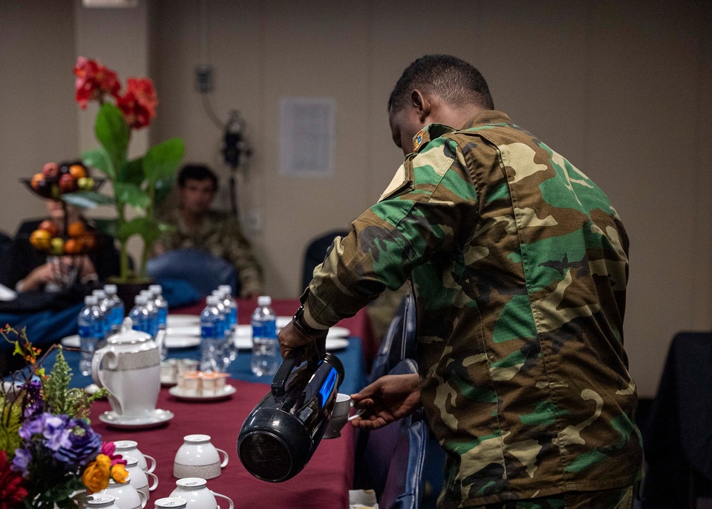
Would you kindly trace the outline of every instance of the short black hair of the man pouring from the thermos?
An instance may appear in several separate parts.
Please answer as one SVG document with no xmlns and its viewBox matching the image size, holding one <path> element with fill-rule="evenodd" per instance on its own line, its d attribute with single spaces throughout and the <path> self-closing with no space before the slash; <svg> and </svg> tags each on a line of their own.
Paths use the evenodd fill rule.
<svg viewBox="0 0 712 509">
<path fill-rule="evenodd" d="M 495 109 L 482 73 L 455 56 L 425 55 L 411 63 L 388 98 L 388 112 L 395 113 L 406 106 L 416 88 L 435 93 L 453 106 L 477 104 Z"/>
</svg>

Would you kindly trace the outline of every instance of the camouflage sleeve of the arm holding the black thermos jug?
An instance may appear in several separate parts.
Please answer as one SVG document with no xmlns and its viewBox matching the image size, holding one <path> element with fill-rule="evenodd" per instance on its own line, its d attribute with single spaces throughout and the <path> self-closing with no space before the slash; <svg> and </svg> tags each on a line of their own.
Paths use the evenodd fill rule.
<svg viewBox="0 0 712 509">
<path fill-rule="evenodd" d="M 330 327 L 386 287 L 398 289 L 414 267 L 464 244 L 476 216 L 475 186 L 458 145 L 431 141 L 406 158 L 351 233 L 336 237 L 301 297 L 306 321 Z"/>
</svg>

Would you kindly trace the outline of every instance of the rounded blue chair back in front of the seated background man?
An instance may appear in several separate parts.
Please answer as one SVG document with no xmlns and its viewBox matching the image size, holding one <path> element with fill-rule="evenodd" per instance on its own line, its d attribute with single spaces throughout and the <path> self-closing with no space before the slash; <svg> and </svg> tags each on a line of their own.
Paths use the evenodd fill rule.
<svg viewBox="0 0 712 509">
<path fill-rule="evenodd" d="M 189 283 L 200 292 L 201 296 L 210 295 L 220 284 L 229 284 L 234 290 L 233 295 L 239 295 L 238 274 L 232 264 L 210 253 L 182 249 L 164 253 L 148 260 L 146 272 L 153 279 L 180 279 Z M 170 303 L 169 303 L 170 304 Z"/>
</svg>

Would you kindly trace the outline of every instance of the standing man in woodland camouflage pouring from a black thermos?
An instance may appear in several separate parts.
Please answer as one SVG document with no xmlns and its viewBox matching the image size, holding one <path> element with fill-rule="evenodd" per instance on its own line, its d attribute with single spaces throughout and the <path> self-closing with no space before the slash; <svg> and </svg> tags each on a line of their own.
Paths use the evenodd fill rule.
<svg viewBox="0 0 712 509">
<path fill-rule="evenodd" d="M 315 269 L 283 353 L 410 278 L 419 376 L 352 396 L 368 409 L 354 423 L 422 404 L 448 455 L 440 508 L 631 508 L 628 240 L 607 196 L 458 58 L 413 62 L 388 113 L 406 160 Z"/>
</svg>

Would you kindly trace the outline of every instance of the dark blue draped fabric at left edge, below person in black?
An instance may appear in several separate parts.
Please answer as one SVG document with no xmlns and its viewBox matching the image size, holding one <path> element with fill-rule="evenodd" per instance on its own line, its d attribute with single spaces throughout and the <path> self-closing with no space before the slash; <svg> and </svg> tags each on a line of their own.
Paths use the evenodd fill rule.
<svg viewBox="0 0 712 509">
<path fill-rule="evenodd" d="M 82 307 L 83 304 L 80 303 L 61 311 L 48 309 L 31 313 L 2 313 L 0 314 L 0 324 L 3 326 L 9 324 L 18 330 L 26 327 L 27 337 L 32 344 L 44 348 L 65 336 L 77 334 L 77 316 Z M 12 349 L 14 349 L 14 345 L 7 341 L 0 342 L 0 351 Z"/>
</svg>

